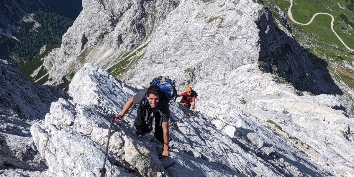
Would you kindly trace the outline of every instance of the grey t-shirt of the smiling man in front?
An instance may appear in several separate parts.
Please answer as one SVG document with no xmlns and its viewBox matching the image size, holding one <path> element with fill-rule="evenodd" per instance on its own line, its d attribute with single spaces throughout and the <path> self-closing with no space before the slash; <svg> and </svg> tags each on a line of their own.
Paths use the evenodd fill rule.
<svg viewBox="0 0 354 177">
<path fill-rule="evenodd" d="M 141 90 L 136 95 L 133 96 L 133 103 L 140 104 L 141 101 L 144 99 L 148 88 Z M 149 105 L 150 106 L 150 105 Z M 162 113 L 162 122 L 169 122 L 170 120 L 170 106 L 169 101 L 162 101 L 160 100 L 158 105 L 156 106 L 155 110 L 159 110 L 158 113 Z M 151 114 L 151 113 L 149 113 Z"/>
</svg>

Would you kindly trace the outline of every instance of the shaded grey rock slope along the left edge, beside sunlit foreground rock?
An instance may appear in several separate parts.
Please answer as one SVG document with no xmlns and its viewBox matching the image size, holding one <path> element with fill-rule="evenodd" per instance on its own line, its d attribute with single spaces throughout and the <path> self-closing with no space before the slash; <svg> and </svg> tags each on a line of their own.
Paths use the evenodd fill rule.
<svg viewBox="0 0 354 177">
<path fill-rule="evenodd" d="M 13 169 L 5 173 L 10 176 L 23 171 L 40 176 L 48 167 L 36 149 L 30 126 L 45 118 L 51 102 L 69 96 L 56 86 L 30 82 L 15 65 L 4 60 L 0 60 L 0 74 L 1 169 Z"/>
</svg>

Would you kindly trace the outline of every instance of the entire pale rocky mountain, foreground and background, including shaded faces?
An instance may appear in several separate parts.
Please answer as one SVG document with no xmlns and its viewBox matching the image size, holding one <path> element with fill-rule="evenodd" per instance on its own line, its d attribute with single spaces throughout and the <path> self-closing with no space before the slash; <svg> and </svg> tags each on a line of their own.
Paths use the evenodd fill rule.
<svg viewBox="0 0 354 177">
<path fill-rule="evenodd" d="M 114 177 L 354 176 L 354 91 L 327 85 L 280 8 L 272 14 L 252 0 L 82 6 L 32 74 L 45 73 L 34 78 L 47 85 L 0 61 L 1 176 L 98 177 L 103 166 Z M 200 111 L 170 102 L 170 123 L 187 118 L 170 126 L 164 159 L 154 130 L 135 133 L 137 108 L 110 119 L 158 75 L 176 80 L 178 93 L 192 86 Z M 48 86 L 63 83 L 67 92 Z"/>
</svg>

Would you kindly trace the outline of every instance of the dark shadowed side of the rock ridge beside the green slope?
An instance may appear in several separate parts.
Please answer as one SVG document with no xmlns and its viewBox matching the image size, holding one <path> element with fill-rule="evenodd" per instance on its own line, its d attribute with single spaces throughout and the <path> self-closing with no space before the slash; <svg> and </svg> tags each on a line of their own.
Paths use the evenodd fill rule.
<svg viewBox="0 0 354 177">
<path fill-rule="evenodd" d="M 276 82 L 289 83 L 299 91 L 343 95 L 331 78 L 326 61 L 300 46 L 289 29 L 276 27 L 267 8 L 261 13 L 255 21 L 260 40 L 259 68 L 281 77 L 274 78 Z"/>
</svg>

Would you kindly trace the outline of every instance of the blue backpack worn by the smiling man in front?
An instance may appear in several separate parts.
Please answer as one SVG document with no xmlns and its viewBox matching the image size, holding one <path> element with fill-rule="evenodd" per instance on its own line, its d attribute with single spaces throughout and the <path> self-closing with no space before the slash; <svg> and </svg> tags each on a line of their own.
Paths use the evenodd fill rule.
<svg viewBox="0 0 354 177">
<path fill-rule="evenodd" d="M 168 76 L 159 76 L 154 78 L 150 82 L 150 85 L 156 85 L 160 87 L 161 92 L 164 93 L 161 94 L 162 100 L 171 100 L 177 96 L 176 81 L 169 79 Z"/>
</svg>

